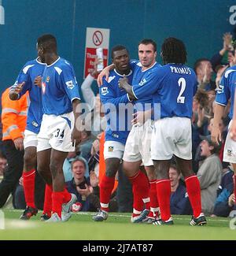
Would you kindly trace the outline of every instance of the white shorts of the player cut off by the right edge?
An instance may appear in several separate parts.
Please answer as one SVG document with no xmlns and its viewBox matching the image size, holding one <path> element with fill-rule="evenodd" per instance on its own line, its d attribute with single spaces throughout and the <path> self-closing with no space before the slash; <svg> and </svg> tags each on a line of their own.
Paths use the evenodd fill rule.
<svg viewBox="0 0 236 256">
<path fill-rule="evenodd" d="M 229 129 L 231 124 L 232 121 L 230 121 Z M 228 132 L 224 144 L 223 161 L 228 161 L 230 163 L 236 164 L 236 142 L 230 138 L 230 132 Z"/>
</svg>

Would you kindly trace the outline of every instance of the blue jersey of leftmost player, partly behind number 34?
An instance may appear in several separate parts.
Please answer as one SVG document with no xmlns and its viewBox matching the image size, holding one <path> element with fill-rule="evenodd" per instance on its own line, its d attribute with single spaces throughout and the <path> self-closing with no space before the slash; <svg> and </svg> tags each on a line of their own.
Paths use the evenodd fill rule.
<svg viewBox="0 0 236 256">
<path fill-rule="evenodd" d="M 18 83 L 25 83 L 22 91 L 20 91 L 20 97 L 29 92 L 30 106 L 28 109 L 27 126 L 26 129 L 39 133 L 40 125 L 42 122 L 42 96 L 41 88 L 34 84 L 36 76 L 42 76 L 46 64 L 37 61 L 28 61 L 24 67 L 20 70 L 17 80 L 13 87 L 16 87 Z"/>
</svg>

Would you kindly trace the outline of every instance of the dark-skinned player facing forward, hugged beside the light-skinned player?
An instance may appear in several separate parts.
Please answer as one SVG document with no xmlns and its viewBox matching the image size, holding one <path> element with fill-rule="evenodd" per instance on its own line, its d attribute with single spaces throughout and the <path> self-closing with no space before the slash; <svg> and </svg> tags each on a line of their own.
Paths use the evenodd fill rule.
<svg viewBox="0 0 236 256">
<path fill-rule="evenodd" d="M 130 128 L 128 127 L 128 114 L 133 113 L 133 105 L 127 92 L 118 87 L 118 81 L 126 76 L 131 82 L 133 74 L 129 63 L 129 54 L 124 46 L 112 48 L 112 63 L 114 69 L 109 73 L 108 81 L 103 78 L 99 88 L 101 102 L 105 109 L 107 127 L 105 129 L 105 175 L 100 184 L 99 212 L 94 215 L 94 221 L 105 221 L 109 212 L 109 201 L 115 184 L 115 176 L 120 166 L 120 160 L 124 154 L 124 145 Z M 131 121 L 131 120 L 130 120 Z"/>
</svg>

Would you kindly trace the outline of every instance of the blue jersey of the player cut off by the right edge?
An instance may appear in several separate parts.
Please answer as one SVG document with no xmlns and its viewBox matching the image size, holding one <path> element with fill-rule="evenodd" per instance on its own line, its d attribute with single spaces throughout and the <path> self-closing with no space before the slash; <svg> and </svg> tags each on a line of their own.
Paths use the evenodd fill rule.
<svg viewBox="0 0 236 256">
<path fill-rule="evenodd" d="M 234 111 L 234 91 L 236 86 L 236 65 L 228 68 L 219 82 L 219 91 L 216 92 L 216 103 L 227 106 L 228 100 L 231 98 L 229 117 L 233 118 Z"/>
</svg>

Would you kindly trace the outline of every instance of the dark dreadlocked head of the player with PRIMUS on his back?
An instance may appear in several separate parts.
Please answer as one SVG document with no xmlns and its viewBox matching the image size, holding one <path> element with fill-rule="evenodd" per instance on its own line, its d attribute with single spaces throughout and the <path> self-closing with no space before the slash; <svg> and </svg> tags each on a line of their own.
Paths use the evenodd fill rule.
<svg viewBox="0 0 236 256">
<path fill-rule="evenodd" d="M 175 63 L 184 64 L 186 63 L 186 47 L 183 41 L 169 37 L 164 39 L 164 43 L 161 46 L 161 58 L 164 64 Z"/>
</svg>

